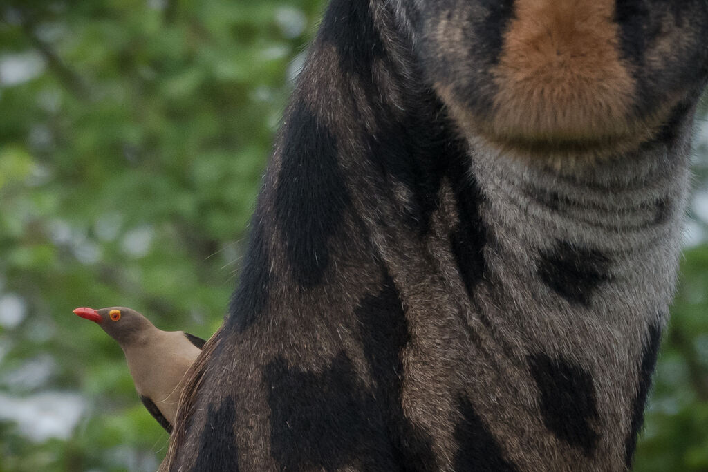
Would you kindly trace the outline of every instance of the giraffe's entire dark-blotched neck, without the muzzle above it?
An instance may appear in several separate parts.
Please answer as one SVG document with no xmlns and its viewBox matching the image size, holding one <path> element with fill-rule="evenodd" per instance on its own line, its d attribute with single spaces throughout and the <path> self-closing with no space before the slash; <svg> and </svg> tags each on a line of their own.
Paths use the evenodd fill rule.
<svg viewBox="0 0 708 472">
<path fill-rule="evenodd" d="M 170 457 L 622 470 L 675 280 L 690 107 L 605 161 L 500 152 L 448 117 L 404 3 L 455 2 L 331 2 Z"/>
</svg>

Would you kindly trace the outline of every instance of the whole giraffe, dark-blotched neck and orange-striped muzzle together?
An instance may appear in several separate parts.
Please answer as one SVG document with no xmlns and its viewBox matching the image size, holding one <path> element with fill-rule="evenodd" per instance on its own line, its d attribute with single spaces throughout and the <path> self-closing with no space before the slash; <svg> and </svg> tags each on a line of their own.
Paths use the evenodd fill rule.
<svg viewBox="0 0 708 472">
<path fill-rule="evenodd" d="M 331 0 L 163 471 L 622 471 L 704 0 Z"/>
</svg>

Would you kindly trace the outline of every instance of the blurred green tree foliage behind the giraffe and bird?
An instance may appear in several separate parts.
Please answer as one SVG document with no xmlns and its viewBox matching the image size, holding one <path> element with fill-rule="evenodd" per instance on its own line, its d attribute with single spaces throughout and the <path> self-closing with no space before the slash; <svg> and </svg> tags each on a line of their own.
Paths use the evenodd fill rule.
<svg viewBox="0 0 708 472">
<path fill-rule="evenodd" d="M 209 338 L 322 0 L 0 5 L 0 472 L 154 471 L 168 435 L 77 306 Z M 703 112 L 704 113 L 704 110 Z M 708 126 L 637 471 L 708 470 Z"/>
</svg>

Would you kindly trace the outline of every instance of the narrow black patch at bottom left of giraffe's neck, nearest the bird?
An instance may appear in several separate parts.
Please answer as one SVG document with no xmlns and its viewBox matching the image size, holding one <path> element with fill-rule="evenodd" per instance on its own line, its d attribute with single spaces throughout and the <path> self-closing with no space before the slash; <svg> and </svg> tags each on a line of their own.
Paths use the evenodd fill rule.
<svg viewBox="0 0 708 472">
<path fill-rule="evenodd" d="M 230 472 L 238 470 L 236 449 L 236 405 L 234 398 L 222 398 L 218 410 L 210 403 L 207 427 L 200 434 L 201 445 L 191 472 Z"/>
</svg>

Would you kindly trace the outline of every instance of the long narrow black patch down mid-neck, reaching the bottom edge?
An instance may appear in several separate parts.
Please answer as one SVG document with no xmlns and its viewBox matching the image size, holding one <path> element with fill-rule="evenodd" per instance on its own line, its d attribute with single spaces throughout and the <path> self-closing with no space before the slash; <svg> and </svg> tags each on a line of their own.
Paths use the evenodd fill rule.
<svg viewBox="0 0 708 472">
<path fill-rule="evenodd" d="M 404 369 L 401 351 L 411 339 L 399 292 L 386 274 L 381 291 L 365 297 L 355 309 L 364 355 L 375 384 L 375 398 L 387 423 L 396 464 L 406 471 L 435 471 L 430 434 L 414 425 L 401 405 Z"/>
</svg>

